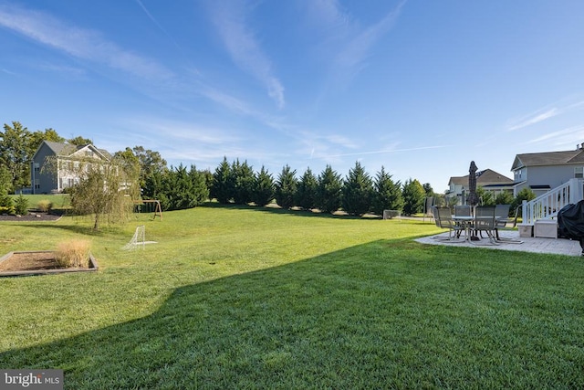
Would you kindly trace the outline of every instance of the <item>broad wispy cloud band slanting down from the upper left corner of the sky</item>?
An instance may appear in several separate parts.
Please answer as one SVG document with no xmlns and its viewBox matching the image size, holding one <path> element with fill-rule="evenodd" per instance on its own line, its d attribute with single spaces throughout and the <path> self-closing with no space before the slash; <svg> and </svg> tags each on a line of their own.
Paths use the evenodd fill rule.
<svg viewBox="0 0 584 390">
<path fill-rule="evenodd" d="M 76 58 L 105 64 L 142 79 L 170 79 L 172 72 L 151 58 L 124 50 L 97 31 L 70 26 L 46 13 L 0 5 L 0 26 Z"/>
</svg>

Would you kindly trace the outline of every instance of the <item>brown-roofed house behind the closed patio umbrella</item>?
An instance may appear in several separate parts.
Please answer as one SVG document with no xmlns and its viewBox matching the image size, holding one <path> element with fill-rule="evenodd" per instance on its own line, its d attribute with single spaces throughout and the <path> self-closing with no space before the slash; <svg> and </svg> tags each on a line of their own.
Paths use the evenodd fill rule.
<svg viewBox="0 0 584 390">
<path fill-rule="evenodd" d="M 494 196 L 503 192 L 513 192 L 513 180 L 503 174 L 498 174 L 491 169 L 476 172 L 476 186 L 483 187 Z M 455 197 L 457 205 L 465 205 L 468 196 L 468 174 L 465 176 L 453 176 L 448 182 L 446 197 Z"/>
</svg>

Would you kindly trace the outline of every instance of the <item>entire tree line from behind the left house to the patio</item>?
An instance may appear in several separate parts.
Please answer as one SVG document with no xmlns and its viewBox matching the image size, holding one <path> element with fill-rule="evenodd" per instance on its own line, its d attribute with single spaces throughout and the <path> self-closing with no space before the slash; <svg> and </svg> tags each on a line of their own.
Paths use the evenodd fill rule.
<svg viewBox="0 0 584 390">
<path fill-rule="evenodd" d="M 18 121 L 5 124 L 4 132 L 0 132 L 0 193 L 13 194 L 17 189 L 31 185 L 30 162 L 43 141 L 75 145 L 92 143 L 81 136 L 66 139 L 54 129 L 30 132 Z M 320 174 L 314 174 L 308 168 L 299 177 L 296 170 L 286 165 L 274 177 L 264 166 L 255 172 L 246 161 L 236 159 L 229 163 L 224 157 L 212 173 L 197 170 L 194 165 L 189 168 L 183 164 L 168 167 L 160 153 L 135 146 L 114 153 L 110 163 L 119 167 L 112 172 L 124 173 L 123 177 L 117 175 L 115 180 L 136 182 L 138 197 L 158 199 L 163 210 L 190 208 L 214 198 L 222 204 L 265 206 L 276 202 L 284 208 L 296 206 L 325 213 L 342 209 L 350 215 L 381 215 L 384 209 L 391 209 L 412 215 L 422 212 L 426 196 L 435 195 L 430 184 L 422 185 L 415 179 L 403 184 L 394 181 L 384 167 L 372 177 L 359 162 L 346 177 L 330 165 Z M 87 172 L 78 174 L 88 176 Z M 99 171 L 92 174 L 99 175 Z M 85 176 L 77 187 L 91 182 L 99 185 L 99 181 L 107 179 Z M 110 186 L 120 190 L 117 184 Z M 78 195 L 78 199 L 81 194 L 91 194 L 91 191 L 81 191 L 80 188 L 71 188 L 70 191 Z M 108 202 L 104 201 L 104 205 L 111 204 Z"/>
</svg>

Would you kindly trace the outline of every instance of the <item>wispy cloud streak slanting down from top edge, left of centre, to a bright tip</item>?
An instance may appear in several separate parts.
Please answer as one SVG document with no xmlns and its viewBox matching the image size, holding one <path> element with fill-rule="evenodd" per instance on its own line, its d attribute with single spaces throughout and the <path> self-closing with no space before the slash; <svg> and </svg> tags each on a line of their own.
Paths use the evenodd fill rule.
<svg viewBox="0 0 584 390">
<path fill-rule="evenodd" d="M 284 86 L 274 75 L 271 61 L 247 26 L 244 2 L 215 1 L 211 12 L 214 26 L 235 64 L 264 84 L 270 98 L 276 101 L 278 108 L 283 108 L 286 103 Z"/>
</svg>

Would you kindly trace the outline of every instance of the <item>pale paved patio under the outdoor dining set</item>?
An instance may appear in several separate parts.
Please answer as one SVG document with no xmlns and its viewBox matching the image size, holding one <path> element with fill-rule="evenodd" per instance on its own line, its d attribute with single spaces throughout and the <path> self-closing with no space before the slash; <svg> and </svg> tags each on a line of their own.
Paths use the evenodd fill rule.
<svg viewBox="0 0 584 390">
<path fill-rule="evenodd" d="M 518 231 L 504 231 L 500 233 L 501 237 L 520 239 L 522 244 L 499 244 L 489 245 L 487 238 L 482 238 L 476 244 L 470 243 L 461 238 L 457 242 L 444 242 L 433 237 L 448 237 L 448 232 L 441 233 L 435 236 L 428 236 L 417 238 L 416 241 L 422 244 L 433 245 L 449 245 L 454 247 L 469 247 L 469 248 L 489 248 L 495 250 L 519 250 L 522 252 L 536 252 L 536 253 L 551 253 L 566 256 L 581 256 L 582 248 L 578 241 L 569 240 L 566 238 L 541 238 L 541 237 L 519 237 Z"/>
</svg>

